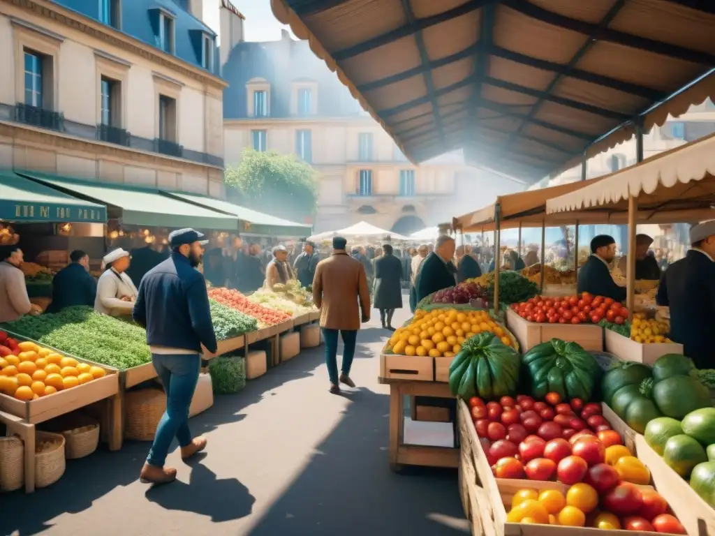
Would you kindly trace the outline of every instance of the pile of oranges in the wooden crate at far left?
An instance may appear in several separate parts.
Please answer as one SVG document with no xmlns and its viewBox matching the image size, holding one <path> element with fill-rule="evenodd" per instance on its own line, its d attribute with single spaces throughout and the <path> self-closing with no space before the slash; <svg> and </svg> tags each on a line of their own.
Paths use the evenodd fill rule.
<svg viewBox="0 0 715 536">
<path fill-rule="evenodd" d="M 18 355 L 0 357 L 0 392 L 19 400 L 36 400 L 107 374 L 102 367 L 77 362 L 34 342 L 21 342 L 19 347 Z"/>
</svg>

